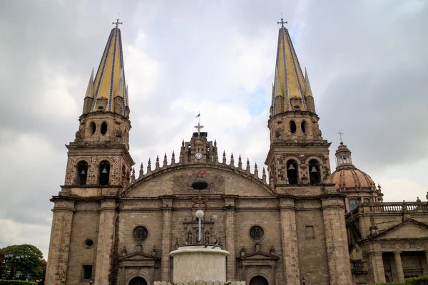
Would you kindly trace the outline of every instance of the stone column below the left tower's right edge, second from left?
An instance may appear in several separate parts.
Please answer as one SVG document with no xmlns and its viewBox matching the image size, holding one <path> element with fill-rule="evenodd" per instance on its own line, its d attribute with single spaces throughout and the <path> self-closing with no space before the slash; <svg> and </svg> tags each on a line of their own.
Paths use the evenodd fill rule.
<svg viewBox="0 0 428 285">
<path fill-rule="evenodd" d="M 111 254 L 114 246 L 116 200 L 103 199 L 100 207 L 98 242 L 96 243 L 95 278 L 96 285 L 108 285 L 111 274 Z"/>
</svg>

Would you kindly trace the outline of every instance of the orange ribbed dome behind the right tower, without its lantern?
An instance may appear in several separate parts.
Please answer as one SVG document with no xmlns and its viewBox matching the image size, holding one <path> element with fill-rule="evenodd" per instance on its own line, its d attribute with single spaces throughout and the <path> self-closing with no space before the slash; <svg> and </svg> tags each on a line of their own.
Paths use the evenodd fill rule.
<svg viewBox="0 0 428 285">
<path fill-rule="evenodd" d="M 340 167 L 332 173 L 336 189 L 375 187 L 372 178 L 355 167 Z"/>
</svg>

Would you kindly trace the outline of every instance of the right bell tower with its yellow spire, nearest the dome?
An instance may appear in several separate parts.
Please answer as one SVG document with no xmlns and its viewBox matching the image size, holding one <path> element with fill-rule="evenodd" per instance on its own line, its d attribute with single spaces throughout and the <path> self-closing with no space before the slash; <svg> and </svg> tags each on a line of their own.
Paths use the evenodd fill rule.
<svg viewBox="0 0 428 285">
<path fill-rule="evenodd" d="M 270 183 L 317 185 L 330 182 L 330 143 L 323 140 L 305 69 L 303 74 L 283 19 L 278 34 L 272 105 L 267 127 L 270 150 L 266 162 Z"/>
</svg>

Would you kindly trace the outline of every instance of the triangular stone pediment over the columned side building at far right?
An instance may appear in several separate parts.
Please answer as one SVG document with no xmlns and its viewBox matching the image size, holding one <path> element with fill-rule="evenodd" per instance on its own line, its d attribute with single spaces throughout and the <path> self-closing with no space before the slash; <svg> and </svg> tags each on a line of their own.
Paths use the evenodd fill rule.
<svg viewBox="0 0 428 285">
<path fill-rule="evenodd" d="M 421 239 L 428 238 L 428 224 L 408 219 L 401 224 L 397 224 L 389 229 L 385 229 L 379 234 L 375 234 L 370 239 Z"/>
</svg>

